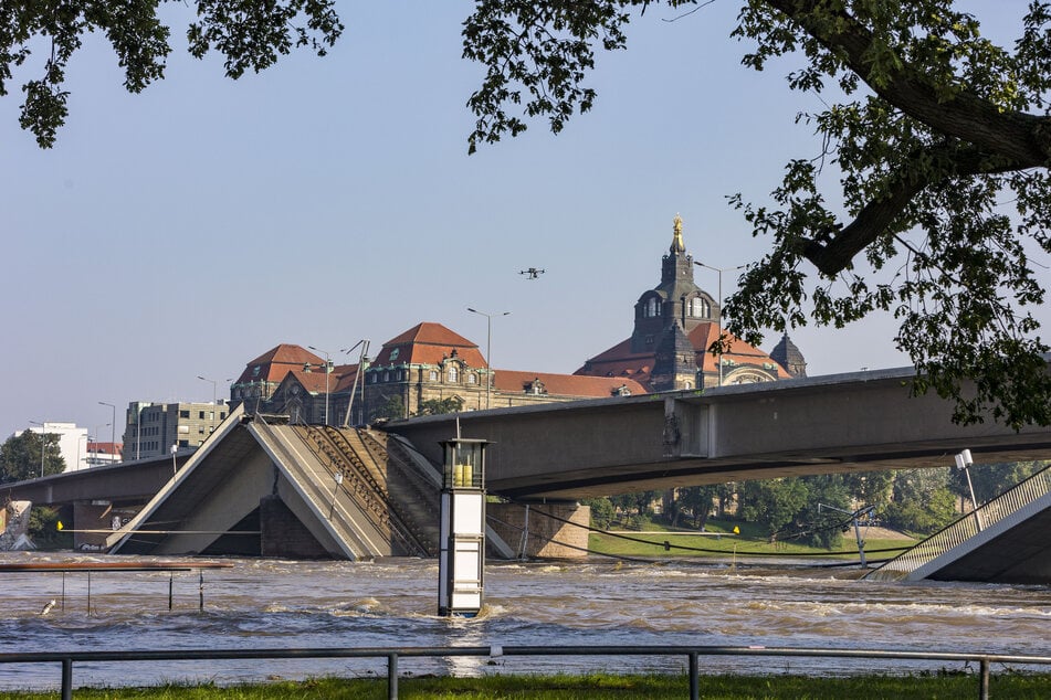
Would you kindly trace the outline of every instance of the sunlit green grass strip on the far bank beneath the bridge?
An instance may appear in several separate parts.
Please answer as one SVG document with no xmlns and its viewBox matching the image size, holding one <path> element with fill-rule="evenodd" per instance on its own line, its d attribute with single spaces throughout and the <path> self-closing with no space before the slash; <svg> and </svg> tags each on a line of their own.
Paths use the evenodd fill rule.
<svg viewBox="0 0 1051 700">
<path fill-rule="evenodd" d="M 739 534 L 733 532 L 737 527 Z M 687 530 L 671 530 L 656 523 L 649 523 L 644 530 L 614 531 L 610 533 L 592 532 L 588 549 L 612 556 L 638 556 L 643 559 L 661 556 L 716 556 L 732 558 L 736 554 L 742 561 L 747 558 L 799 556 L 828 559 L 829 561 L 858 560 L 858 542 L 850 532 L 844 537 L 834 553 L 828 550 L 799 544 L 797 542 L 774 542 L 750 523 L 710 521 L 704 533 Z M 862 533 L 865 553 L 869 559 L 890 559 L 916 543 L 917 540 L 904 534 L 883 530 Z M 668 542 L 665 549 L 664 543 Z"/>
</svg>

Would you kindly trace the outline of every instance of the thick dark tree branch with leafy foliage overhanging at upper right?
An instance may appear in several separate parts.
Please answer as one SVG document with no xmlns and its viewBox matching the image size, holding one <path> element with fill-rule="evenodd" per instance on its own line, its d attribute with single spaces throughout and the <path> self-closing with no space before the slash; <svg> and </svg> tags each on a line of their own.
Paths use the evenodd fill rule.
<svg viewBox="0 0 1051 700">
<path fill-rule="evenodd" d="M 624 49 L 633 11 L 641 19 L 651 4 L 477 0 L 464 56 L 486 75 L 469 102 L 470 148 L 516 136 L 529 118 L 557 132 L 590 109 L 596 51 Z M 725 311 L 753 343 L 766 328 L 889 311 L 916 365 L 914 393 L 953 399 L 961 423 L 1045 425 L 1048 347 L 1029 311 L 1044 289 L 1029 255 L 1051 253 L 1051 3 L 1030 3 L 1012 50 L 979 29 L 952 0 L 744 3 L 734 31 L 753 42 L 744 64 L 798 56 L 789 87 L 829 106 L 800 115 L 822 148 L 786 166 L 770 204 L 733 198 L 771 250 Z M 833 168 L 830 198 L 819 177 Z"/>
</svg>

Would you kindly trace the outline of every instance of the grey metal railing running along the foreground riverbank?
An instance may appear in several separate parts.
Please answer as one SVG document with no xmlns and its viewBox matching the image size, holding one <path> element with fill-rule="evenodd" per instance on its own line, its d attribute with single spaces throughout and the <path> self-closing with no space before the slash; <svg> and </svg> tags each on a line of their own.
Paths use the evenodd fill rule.
<svg viewBox="0 0 1051 700">
<path fill-rule="evenodd" d="M 302 649 L 168 649 L 123 651 L 27 651 L 0 654 L 0 664 L 61 664 L 62 699 L 73 698 L 73 664 L 98 661 L 206 661 L 258 659 L 386 658 L 387 697 L 398 698 L 398 661 L 418 657 L 465 656 L 663 656 L 684 657 L 690 677 L 690 697 L 701 692 L 698 659 L 702 656 L 776 656 L 887 660 L 964 661 L 978 664 L 979 698 L 989 697 L 991 664 L 1051 665 L 1051 656 L 902 649 L 824 649 L 811 647 L 734 646 L 487 646 L 487 647 L 361 647 Z"/>
</svg>

